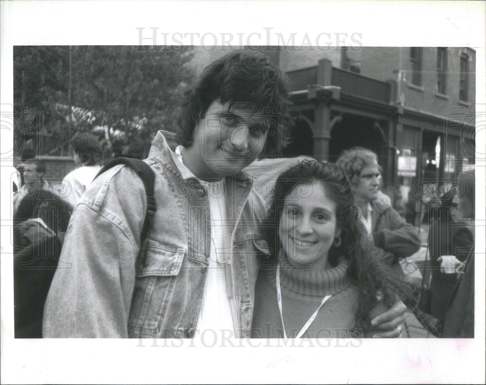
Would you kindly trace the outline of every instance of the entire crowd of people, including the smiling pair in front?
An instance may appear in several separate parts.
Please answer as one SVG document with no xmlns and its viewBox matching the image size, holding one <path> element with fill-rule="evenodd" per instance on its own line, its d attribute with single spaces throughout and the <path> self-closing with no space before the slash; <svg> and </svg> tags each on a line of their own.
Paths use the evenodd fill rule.
<svg viewBox="0 0 486 385">
<path fill-rule="evenodd" d="M 16 336 L 399 337 L 412 298 L 399 261 L 419 250 L 420 238 L 380 191 L 377 155 L 353 148 L 336 164 L 295 160 L 269 202 L 243 170 L 289 142 L 289 98 L 263 55 L 235 51 L 210 64 L 182 105 L 179 146 L 173 151 L 159 132 L 145 160 L 155 172 L 147 236 L 145 184 L 122 164 L 95 178 L 94 135 L 70 141 L 76 169 L 62 191 L 50 190 L 42 161 L 23 162 L 16 258 L 40 259 L 33 245 L 49 239 L 56 263 L 40 279 L 43 300 L 26 298 L 32 273 L 16 270 Z M 474 332 L 474 179 L 461 175 L 467 191 L 458 204 L 469 222 L 444 211 L 431 228 L 434 240 L 434 231 L 455 229 L 449 248 L 431 242 L 442 269 L 432 279 L 432 312 L 448 336 Z M 465 317 L 451 316 L 461 309 Z"/>
</svg>

